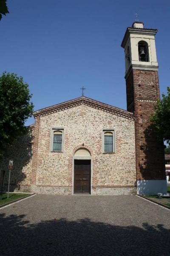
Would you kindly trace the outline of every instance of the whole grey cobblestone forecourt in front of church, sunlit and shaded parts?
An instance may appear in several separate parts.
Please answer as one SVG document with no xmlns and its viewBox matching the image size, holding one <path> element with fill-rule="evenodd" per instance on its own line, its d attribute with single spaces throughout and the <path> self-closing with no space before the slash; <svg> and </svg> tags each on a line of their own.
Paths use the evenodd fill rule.
<svg viewBox="0 0 170 256">
<path fill-rule="evenodd" d="M 0 209 L 0 255 L 170 256 L 170 211 L 134 195 L 35 195 Z"/>
</svg>

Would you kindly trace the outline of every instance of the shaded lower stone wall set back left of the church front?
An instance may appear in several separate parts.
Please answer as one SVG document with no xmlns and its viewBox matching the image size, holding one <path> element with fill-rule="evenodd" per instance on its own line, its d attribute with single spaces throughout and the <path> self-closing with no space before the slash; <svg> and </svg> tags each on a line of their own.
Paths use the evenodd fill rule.
<svg viewBox="0 0 170 256">
<path fill-rule="evenodd" d="M 9 160 L 13 160 L 10 192 L 31 192 L 33 141 L 34 125 L 31 125 L 29 133 L 20 137 L 8 150 L 5 159 L 0 162 L 0 170 L 5 171 L 3 191 L 8 189 L 8 163 Z"/>
</svg>

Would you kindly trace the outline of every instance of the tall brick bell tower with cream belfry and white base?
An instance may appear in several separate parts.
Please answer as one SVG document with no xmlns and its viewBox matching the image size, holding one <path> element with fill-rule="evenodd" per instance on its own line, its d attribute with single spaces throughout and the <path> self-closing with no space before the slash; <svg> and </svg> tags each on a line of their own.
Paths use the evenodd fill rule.
<svg viewBox="0 0 170 256">
<path fill-rule="evenodd" d="M 136 180 L 139 195 L 166 193 L 164 145 L 150 123 L 159 99 L 157 29 L 144 29 L 142 22 L 128 27 L 121 46 L 125 49 L 127 111 L 135 115 Z"/>
</svg>

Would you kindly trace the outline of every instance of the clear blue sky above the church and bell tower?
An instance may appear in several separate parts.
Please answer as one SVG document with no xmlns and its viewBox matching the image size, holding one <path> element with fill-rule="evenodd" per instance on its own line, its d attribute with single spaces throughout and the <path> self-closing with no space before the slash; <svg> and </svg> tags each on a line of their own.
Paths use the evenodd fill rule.
<svg viewBox="0 0 170 256">
<path fill-rule="evenodd" d="M 170 86 L 170 1 L 7 0 L 0 21 L 0 73 L 29 84 L 34 110 L 81 96 L 126 109 L 126 28 L 139 14 L 156 28 L 161 93 Z M 34 122 L 28 119 L 26 125 Z"/>
</svg>

